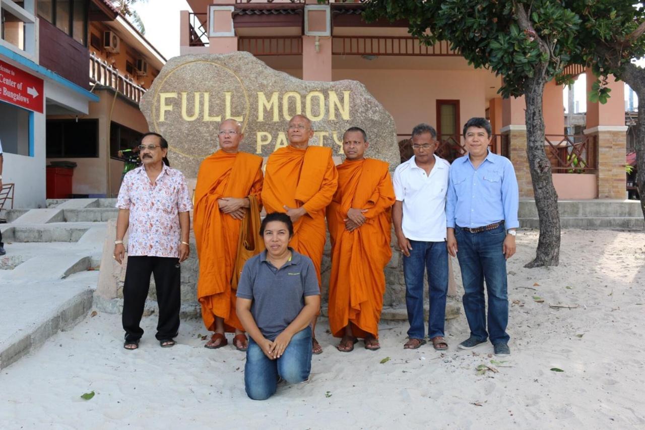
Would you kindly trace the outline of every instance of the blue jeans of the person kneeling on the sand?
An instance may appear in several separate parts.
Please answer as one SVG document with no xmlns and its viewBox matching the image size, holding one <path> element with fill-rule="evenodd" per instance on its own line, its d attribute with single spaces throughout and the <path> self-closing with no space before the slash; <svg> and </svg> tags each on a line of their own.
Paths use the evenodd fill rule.
<svg viewBox="0 0 645 430">
<path fill-rule="evenodd" d="M 275 394 L 278 378 L 297 384 L 309 378 L 312 370 L 312 328 L 294 334 L 280 358 L 270 360 L 252 338 L 248 340 L 244 389 L 253 400 L 266 400 Z"/>
</svg>

